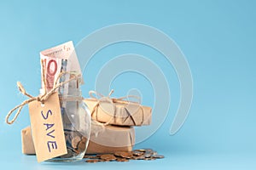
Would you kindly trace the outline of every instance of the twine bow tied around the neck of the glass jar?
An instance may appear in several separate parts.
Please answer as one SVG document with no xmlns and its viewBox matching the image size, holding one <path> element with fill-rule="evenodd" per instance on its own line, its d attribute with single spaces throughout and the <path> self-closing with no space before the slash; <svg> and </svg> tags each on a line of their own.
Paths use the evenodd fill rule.
<svg viewBox="0 0 256 170">
<path fill-rule="evenodd" d="M 44 77 L 44 62 L 41 61 L 41 64 L 43 65 L 43 73 L 42 73 L 42 75 L 43 75 L 43 81 L 44 81 L 44 94 L 42 94 L 42 95 L 39 94 L 37 97 L 33 97 L 31 94 L 27 94 L 27 93 L 26 93 L 26 90 L 25 90 L 25 88 L 23 88 L 21 82 L 17 82 L 17 86 L 18 86 L 18 88 L 19 88 L 21 94 L 26 95 L 27 97 L 29 97 L 29 99 L 26 99 L 26 100 L 23 101 L 20 105 L 15 106 L 15 108 L 13 108 L 11 111 L 9 111 L 8 115 L 7 115 L 6 118 L 5 118 L 5 122 L 6 122 L 6 123 L 8 123 L 8 124 L 13 124 L 13 123 L 15 122 L 15 120 L 17 119 L 17 117 L 20 115 L 20 111 L 22 110 L 22 108 L 23 108 L 24 105 L 29 104 L 29 103 L 31 103 L 32 101 L 35 101 L 35 100 L 37 100 L 37 101 L 41 102 L 42 104 L 44 104 L 44 101 L 47 100 L 51 94 L 54 94 L 54 93 L 55 93 L 55 90 L 56 90 L 57 88 L 60 88 L 61 86 L 63 86 L 63 85 L 66 84 L 67 82 L 71 82 L 71 81 L 73 81 L 73 80 L 78 80 L 78 79 L 81 77 L 81 75 L 78 75 L 78 74 L 76 74 L 75 72 L 61 71 L 61 73 L 60 73 L 60 74 L 58 75 L 58 77 L 55 79 L 53 88 L 50 89 L 49 92 L 46 92 L 47 90 L 46 90 L 46 80 L 45 80 L 45 77 Z M 73 75 L 74 77 L 68 79 L 66 82 L 58 82 L 59 79 L 60 79 L 63 75 L 65 75 L 65 74 L 70 74 L 70 75 Z M 9 121 L 9 117 L 10 117 L 10 116 L 12 115 L 12 113 L 13 113 L 15 110 L 17 110 L 17 109 L 18 109 L 18 111 L 16 112 L 14 118 L 13 118 L 11 121 Z"/>
</svg>

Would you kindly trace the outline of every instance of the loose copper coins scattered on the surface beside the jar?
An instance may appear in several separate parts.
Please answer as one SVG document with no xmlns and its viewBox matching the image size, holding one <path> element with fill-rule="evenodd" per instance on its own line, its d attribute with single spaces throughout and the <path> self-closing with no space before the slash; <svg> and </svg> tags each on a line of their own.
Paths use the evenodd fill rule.
<svg viewBox="0 0 256 170">
<path fill-rule="evenodd" d="M 113 154 L 99 154 L 96 156 L 85 155 L 85 161 L 89 163 L 96 163 L 102 161 L 130 161 L 130 160 L 144 160 L 151 161 L 161 159 L 165 156 L 160 156 L 158 153 L 151 149 L 133 150 L 130 152 L 118 151 Z"/>
</svg>

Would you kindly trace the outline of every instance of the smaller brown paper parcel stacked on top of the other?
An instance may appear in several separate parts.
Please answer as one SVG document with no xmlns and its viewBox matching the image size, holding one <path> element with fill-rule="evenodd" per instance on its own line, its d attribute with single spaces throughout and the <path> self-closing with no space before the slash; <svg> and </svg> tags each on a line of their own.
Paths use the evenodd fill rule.
<svg viewBox="0 0 256 170">
<path fill-rule="evenodd" d="M 105 122 L 119 126 L 142 126 L 151 123 L 152 109 L 121 99 L 112 102 L 99 99 L 84 99 L 91 112 L 91 118 L 97 122 Z"/>
</svg>

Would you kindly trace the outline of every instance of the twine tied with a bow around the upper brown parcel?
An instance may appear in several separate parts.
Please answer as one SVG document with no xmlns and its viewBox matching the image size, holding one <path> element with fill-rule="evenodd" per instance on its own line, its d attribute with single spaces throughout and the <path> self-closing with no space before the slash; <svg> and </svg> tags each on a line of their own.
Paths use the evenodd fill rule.
<svg viewBox="0 0 256 170">
<path fill-rule="evenodd" d="M 94 95 L 93 95 L 94 94 Z M 110 124 L 111 122 L 113 122 L 113 120 L 115 120 L 115 117 L 116 117 L 116 107 L 113 103 L 119 103 L 119 104 L 130 104 L 132 103 L 133 105 L 138 105 L 140 108 L 141 108 L 141 99 L 136 96 L 136 95 L 128 95 L 128 96 L 124 96 L 124 97 L 120 97 L 120 98 L 110 98 L 110 96 L 113 94 L 113 89 L 110 91 L 110 93 L 108 94 L 108 96 L 104 96 L 96 91 L 90 91 L 89 92 L 89 95 L 90 95 L 90 98 L 92 99 L 96 99 L 96 105 L 92 108 L 92 111 L 91 111 L 91 116 L 94 115 L 94 113 L 96 111 L 96 109 L 98 108 L 98 106 L 100 105 L 100 103 L 102 101 L 107 101 L 109 102 L 111 105 L 113 105 L 113 116 L 111 116 L 112 118 L 108 121 L 108 122 L 105 122 L 105 123 L 101 123 L 102 125 L 104 126 L 107 126 L 108 124 Z M 96 96 L 98 96 L 99 98 L 97 98 Z M 137 99 L 138 101 L 135 102 L 135 101 L 129 101 L 130 98 L 133 98 L 133 99 Z M 103 108 L 102 108 L 103 109 Z M 125 109 L 125 112 L 127 113 L 127 116 L 125 116 L 125 120 L 124 122 L 130 117 L 131 118 L 131 121 L 133 122 L 134 125 L 136 125 L 137 123 L 135 122 L 133 116 L 132 116 L 132 113 L 130 113 L 130 111 L 127 110 L 127 108 L 124 108 Z M 104 109 L 103 109 L 104 110 Z M 142 110 L 143 111 L 143 110 Z M 144 116 L 144 113 L 143 113 L 143 116 Z M 144 119 L 144 117 L 143 117 Z M 98 116 L 96 114 L 96 121 L 98 121 Z M 142 121 L 143 122 L 143 121 Z"/>
</svg>

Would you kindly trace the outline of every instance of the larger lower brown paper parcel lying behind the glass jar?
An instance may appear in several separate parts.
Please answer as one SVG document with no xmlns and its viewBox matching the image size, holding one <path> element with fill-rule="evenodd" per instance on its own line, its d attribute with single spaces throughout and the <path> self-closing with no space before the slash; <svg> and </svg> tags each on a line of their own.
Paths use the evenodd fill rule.
<svg viewBox="0 0 256 170">
<path fill-rule="evenodd" d="M 131 151 L 135 144 L 133 127 L 97 126 L 92 124 L 92 133 L 86 154 L 113 153 L 116 151 Z M 31 128 L 21 130 L 22 153 L 35 154 L 32 142 Z"/>
</svg>

